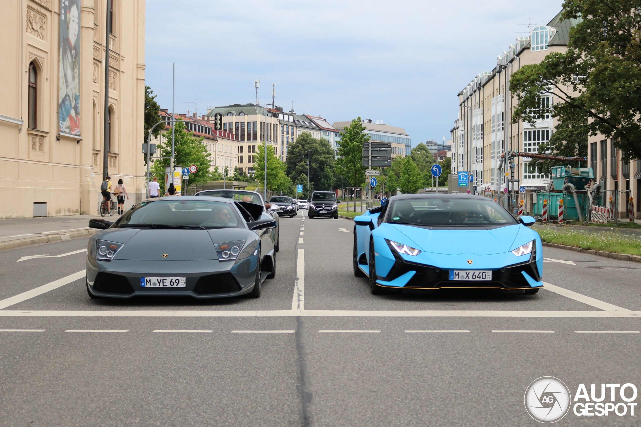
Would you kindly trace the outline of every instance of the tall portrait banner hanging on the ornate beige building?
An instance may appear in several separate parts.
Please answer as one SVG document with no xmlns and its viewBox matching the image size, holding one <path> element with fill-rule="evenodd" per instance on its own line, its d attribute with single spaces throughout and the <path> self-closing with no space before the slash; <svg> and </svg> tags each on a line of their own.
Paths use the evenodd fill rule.
<svg viewBox="0 0 641 427">
<path fill-rule="evenodd" d="M 60 134 L 80 136 L 80 6 L 81 0 L 60 1 Z"/>
</svg>

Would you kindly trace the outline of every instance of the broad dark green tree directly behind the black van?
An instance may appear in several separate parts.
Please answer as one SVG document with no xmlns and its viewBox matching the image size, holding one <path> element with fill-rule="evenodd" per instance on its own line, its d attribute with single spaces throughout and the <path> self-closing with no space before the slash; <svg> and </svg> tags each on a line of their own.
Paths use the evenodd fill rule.
<svg viewBox="0 0 641 427">
<path fill-rule="evenodd" d="M 334 184 L 334 150 L 324 138 L 313 138 L 308 132 L 301 133 L 287 150 L 286 173 L 292 180 L 301 173 L 307 174 L 307 152 L 310 152 L 310 181 L 321 190 L 329 190 Z M 328 174 L 329 171 L 329 174 Z M 305 175 L 306 176 L 306 175 Z"/>
</svg>

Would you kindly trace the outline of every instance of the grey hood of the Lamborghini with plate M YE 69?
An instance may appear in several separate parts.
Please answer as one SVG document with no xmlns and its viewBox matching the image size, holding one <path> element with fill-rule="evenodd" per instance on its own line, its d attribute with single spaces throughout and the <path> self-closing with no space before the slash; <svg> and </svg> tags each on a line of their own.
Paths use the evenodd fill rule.
<svg viewBox="0 0 641 427">
<path fill-rule="evenodd" d="M 199 261 L 218 257 L 208 230 L 143 229 L 122 246 L 114 259 Z"/>
</svg>

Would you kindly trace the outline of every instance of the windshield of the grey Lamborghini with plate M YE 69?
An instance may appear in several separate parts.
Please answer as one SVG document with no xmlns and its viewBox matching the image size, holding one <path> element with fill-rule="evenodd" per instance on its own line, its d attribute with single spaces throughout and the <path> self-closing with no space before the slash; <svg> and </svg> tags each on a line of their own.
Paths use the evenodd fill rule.
<svg viewBox="0 0 641 427">
<path fill-rule="evenodd" d="M 115 225 L 115 227 L 137 226 L 202 229 L 244 228 L 236 209 L 233 209 L 228 203 L 175 199 L 142 202 L 135 205 Z"/>
</svg>

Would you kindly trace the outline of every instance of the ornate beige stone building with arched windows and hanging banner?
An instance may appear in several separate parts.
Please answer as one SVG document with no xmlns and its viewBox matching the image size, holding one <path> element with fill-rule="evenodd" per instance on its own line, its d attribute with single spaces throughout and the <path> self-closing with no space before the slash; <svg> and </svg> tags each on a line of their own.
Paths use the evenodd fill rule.
<svg viewBox="0 0 641 427">
<path fill-rule="evenodd" d="M 145 1 L 106 7 L 106 0 L 3 3 L 0 218 L 97 213 L 108 14 L 108 172 L 126 185 L 126 207 L 144 195 Z"/>
</svg>

